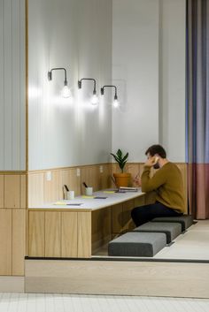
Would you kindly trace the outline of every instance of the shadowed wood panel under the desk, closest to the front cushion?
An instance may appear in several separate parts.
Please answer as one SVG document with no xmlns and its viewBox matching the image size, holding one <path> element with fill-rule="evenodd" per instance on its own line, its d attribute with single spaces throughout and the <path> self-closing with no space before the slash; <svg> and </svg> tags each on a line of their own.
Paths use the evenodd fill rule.
<svg viewBox="0 0 209 312">
<path fill-rule="evenodd" d="M 112 207 L 92 211 L 91 216 L 92 255 L 99 247 L 112 240 Z"/>
</svg>

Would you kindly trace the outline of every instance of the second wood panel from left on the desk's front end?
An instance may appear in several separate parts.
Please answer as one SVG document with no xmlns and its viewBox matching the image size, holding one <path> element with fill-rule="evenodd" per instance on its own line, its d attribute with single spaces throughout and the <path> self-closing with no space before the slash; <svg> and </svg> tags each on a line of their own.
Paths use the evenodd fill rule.
<svg viewBox="0 0 209 312">
<path fill-rule="evenodd" d="M 61 212 L 45 212 L 45 256 L 61 255 Z"/>
</svg>

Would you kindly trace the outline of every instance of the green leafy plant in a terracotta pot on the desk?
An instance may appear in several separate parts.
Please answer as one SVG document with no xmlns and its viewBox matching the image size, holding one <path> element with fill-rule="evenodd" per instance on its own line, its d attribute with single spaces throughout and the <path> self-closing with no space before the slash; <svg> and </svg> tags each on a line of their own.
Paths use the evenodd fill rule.
<svg viewBox="0 0 209 312">
<path fill-rule="evenodd" d="M 119 164 L 121 170 L 120 173 L 113 173 L 115 184 L 118 187 L 128 186 L 131 174 L 128 172 L 124 172 L 125 164 L 128 161 L 128 153 L 126 155 L 123 155 L 122 151 L 119 148 L 116 154 L 111 153 L 111 155 L 114 157 L 115 161 Z"/>
</svg>

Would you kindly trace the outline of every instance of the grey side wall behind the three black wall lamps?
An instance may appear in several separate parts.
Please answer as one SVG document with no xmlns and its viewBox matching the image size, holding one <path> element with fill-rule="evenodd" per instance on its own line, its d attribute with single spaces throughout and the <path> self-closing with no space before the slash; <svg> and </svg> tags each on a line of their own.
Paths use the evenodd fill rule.
<svg viewBox="0 0 209 312">
<path fill-rule="evenodd" d="M 29 170 L 109 161 L 112 110 L 97 92 L 112 82 L 112 0 L 28 1 Z M 59 95 L 65 67 L 73 101 Z"/>
</svg>

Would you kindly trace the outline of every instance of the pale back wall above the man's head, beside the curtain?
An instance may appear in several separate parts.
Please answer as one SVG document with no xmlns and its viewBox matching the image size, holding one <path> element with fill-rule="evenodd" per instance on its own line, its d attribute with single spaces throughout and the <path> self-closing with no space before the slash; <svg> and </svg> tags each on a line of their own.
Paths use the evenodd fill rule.
<svg viewBox="0 0 209 312">
<path fill-rule="evenodd" d="M 112 114 L 112 149 L 143 162 L 160 143 L 185 162 L 186 1 L 113 0 L 112 78 L 120 110 Z"/>
</svg>

